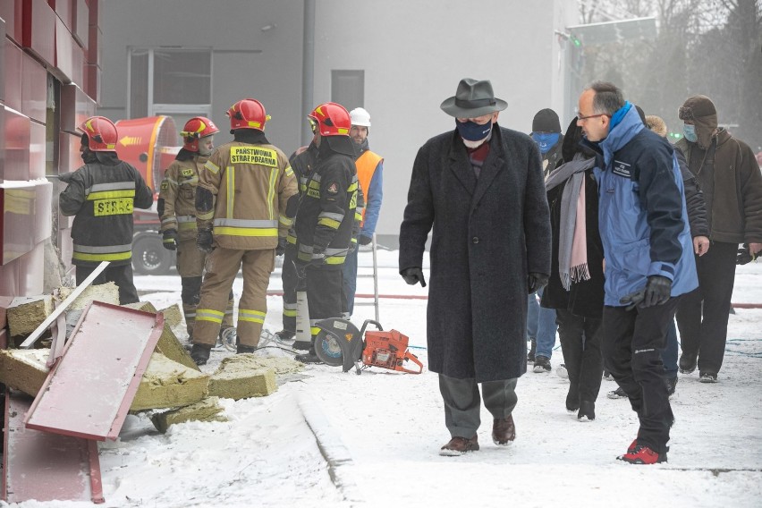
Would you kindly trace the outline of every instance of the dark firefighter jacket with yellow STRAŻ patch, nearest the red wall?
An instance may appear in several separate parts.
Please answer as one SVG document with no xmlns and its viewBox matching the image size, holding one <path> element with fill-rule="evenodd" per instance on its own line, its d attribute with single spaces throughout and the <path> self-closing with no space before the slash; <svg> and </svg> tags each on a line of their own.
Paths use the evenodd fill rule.
<svg viewBox="0 0 762 508">
<path fill-rule="evenodd" d="M 63 215 L 74 216 L 72 264 L 131 263 L 132 208 L 150 208 L 153 202 L 138 170 L 116 157 L 80 167 L 59 197 Z"/>
</svg>

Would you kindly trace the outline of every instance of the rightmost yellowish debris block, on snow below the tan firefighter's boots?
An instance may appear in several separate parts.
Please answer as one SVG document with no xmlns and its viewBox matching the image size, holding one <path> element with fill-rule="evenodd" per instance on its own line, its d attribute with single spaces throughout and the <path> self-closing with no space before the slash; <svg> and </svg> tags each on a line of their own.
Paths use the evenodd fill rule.
<svg viewBox="0 0 762 508">
<path fill-rule="evenodd" d="M 275 369 L 262 368 L 257 356 L 236 354 L 222 360 L 209 379 L 209 396 L 228 399 L 263 397 L 277 390 Z"/>
</svg>

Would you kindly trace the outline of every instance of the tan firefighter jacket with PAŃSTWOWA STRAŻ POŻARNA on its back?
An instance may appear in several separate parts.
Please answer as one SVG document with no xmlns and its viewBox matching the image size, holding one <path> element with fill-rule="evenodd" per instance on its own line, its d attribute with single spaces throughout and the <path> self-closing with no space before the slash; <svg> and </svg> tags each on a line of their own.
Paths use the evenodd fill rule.
<svg viewBox="0 0 762 508">
<path fill-rule="evenodd" d="M 285 214 L 297 183 L 285 154 L 273 145 L 232 141 L 217 148 L 199 174 L 213 203 L 196 202 L 196 224 L 212 229 L 225 249 L 275 249 L 292 219 Z M 198 192 L 198 190 L 197 190 Z"/>
</svg>

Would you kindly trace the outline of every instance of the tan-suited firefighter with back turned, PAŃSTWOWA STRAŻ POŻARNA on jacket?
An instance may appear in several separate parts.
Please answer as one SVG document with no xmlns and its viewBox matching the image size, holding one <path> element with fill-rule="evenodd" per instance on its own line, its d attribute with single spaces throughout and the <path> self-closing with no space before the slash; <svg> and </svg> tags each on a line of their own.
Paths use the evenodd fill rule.
<svg viewBox="0 0 762 508">
<path fill-rule="evenodd" d="M 233 279 L 243 266 L 238 302 L 237 352 L 252 352 L 267 313 L 267 284 L 275 249 L 299 204 L 296 179 L 285 154 L 265 137 L 269 116 L 245 98 L 227 111 L 233 141 L 217 148 L 199 174 L 196 244 L 209 253 L 196 308 L 191 358 L 204 365 L 224 318 Z M 283 241 L 280 241 L 283 243 Z"/>
</svg>

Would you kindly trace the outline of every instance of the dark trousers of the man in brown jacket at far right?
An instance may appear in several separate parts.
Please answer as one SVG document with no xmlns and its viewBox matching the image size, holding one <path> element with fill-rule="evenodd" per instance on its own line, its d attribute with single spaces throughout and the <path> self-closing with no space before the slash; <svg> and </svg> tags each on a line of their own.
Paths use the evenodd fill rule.
<svg viewBox="0 0 762 508">
<path fill-rule="evenodd" d="M 737 252 L 736 243 L 712 242 L 696 257 L 699 288 L 682 295 L 677 308 L 682 354 L 699 358 L 699 372 L 716 374 L 723 366 Z"/>
</svg>

